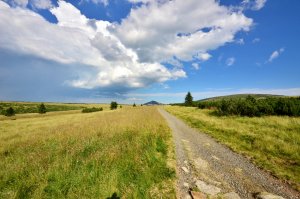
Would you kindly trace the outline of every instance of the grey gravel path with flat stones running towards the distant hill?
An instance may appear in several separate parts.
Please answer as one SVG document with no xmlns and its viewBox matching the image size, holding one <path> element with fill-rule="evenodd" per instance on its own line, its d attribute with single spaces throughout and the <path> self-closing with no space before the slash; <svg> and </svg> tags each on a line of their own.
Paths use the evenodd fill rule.
<svg viewBox="0 0 300 199">
<path fill-rule="evenodd" d="M 260 170 L 245 157 L 188 127 L 165 110 L 159 109 L 159 112 L 173 132 L 180 198 L 191 198 L 191 190 L 204 194 L 199 198 L 205 195 L 228 199 L 300 198 L 299 192 Z M 264 194 L 267 196 L 263 197 Z"/>
</svg>

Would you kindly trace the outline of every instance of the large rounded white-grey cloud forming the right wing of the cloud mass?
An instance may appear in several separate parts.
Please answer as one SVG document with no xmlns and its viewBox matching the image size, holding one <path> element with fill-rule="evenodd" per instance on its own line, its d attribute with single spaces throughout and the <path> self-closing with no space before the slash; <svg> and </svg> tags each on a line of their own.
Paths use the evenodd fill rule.
<svg viewBox="0 0 300 199">
<path fill-rule="evenodd" d="M 213 0 L 151 1 L 132 10 L 112 32 L 141 61 L 161 62 L 172 56 L 191 61 L 232 42 L 235 33 L 251 25 L 242 13 Z"/>
</svg>

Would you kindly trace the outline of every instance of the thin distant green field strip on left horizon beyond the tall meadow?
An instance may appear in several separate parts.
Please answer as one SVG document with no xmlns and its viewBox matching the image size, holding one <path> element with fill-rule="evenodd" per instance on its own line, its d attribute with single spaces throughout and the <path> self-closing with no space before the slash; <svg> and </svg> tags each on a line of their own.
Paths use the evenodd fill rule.
<svg viewBox="0 0 300 199">
<path fill-rule="evenodd" d="M 0 115 L 4 115 L 4 110 L 12 107 L 16 114 L 23 113 L 38 113 L 38 105 L 41 102 L 0 102 Z M 81 110 L 83 108 L 109 108 L 109 104 L 72 104 L 72 103 L 44 103 L 47 112 L 53 111 L 69 111 L 69 110 Z"/>
</svg>

